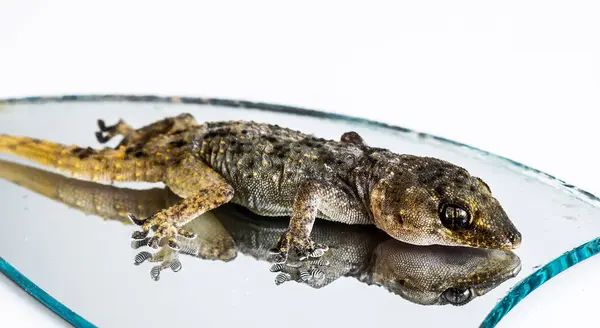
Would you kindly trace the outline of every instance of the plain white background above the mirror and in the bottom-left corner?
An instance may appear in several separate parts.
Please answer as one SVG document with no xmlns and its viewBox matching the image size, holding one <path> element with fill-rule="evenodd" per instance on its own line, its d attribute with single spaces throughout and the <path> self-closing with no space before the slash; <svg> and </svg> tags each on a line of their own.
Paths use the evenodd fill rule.
<svg viewBox="0 0 600 328">
<path fill-rule="evenodd" d="M 0 0 L 0 97 L 320 109 L 464 142 L 600 195 L 597 1 L 160 3 Z M 62 324 L 39 323 L 23 300 L 0 277 L 3 320 Z"/>
</svg>

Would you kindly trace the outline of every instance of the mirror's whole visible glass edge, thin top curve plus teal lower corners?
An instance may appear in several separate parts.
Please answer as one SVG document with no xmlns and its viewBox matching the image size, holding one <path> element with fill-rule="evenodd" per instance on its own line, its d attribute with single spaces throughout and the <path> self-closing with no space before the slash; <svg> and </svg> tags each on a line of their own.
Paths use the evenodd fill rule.
<svg viewBox="0 0 600 328">
<path fill-rule="evenodd" d="M 51 103 L 51 102 L 145 102 L 145 103 L 181 103 L 181 104 L 192 104 L 192 105 L 210 105 L 210 106 L 222 106 L 222 107 L 230 107 L 230 108 L 242 108 L 242 109 L 252 109 L 252 110 L 261 110 L 268 112 L 278 112 L 285 114 L 293 114 L 293 115 L 301 115 L 301 116 L 309 116 L 309 117 L 317 117 L 324 118 L 329 120 L 337 120 L 344 122 L 351 122 L 355 124 L 365 125 L 374 128 L 384 128 L 392 131 L 397 131 L 401 133 L 414 134 L 421 138 L 430 138 L 433 140 L 437 140 L 443 143 L 448 143 L 457 147 L 466 148 L 477 153 L 480 153 L 484 156 L 493 157 L 499 160 L 506 162 L 508 165 L 512 165 L 524 171 L 524 173 L 529 173 L 534 176 L 538 180 L 543 181 L 546 184 L 554 185 L 557 189 L 562 189 L 563 191 L 572 194 L 574 197 L 585 201 L 593 206 L 600 206 L 600 198 L 593 195 L 590 192 L 587 192 L 583 189 L 580 189 L 572 184 L 568 184 L 565 181 L 542 172 L 540 170 L 529 167 L 525 164 L 519 163 L 517 161 L 511 160 L 509 158 L 496 155 L 490 153 L 488 151 L 479 149 L 477 147 L 473 147 L 470 145 L 466 145 L 454 140 L 450 140 L 443 137 L 438 137 L 435 135 L 417 132 L 411 129 L 390 125 L 387 123 L 370 120 L 366 118 L 359 118 L 344 114 L 337 113 L 328 113 L 319 110 L 313 109 L 304 109 L 299 107 L 292 107 L 286 105 L 277 105 L 263 102 L 251 102 L 245 100 L 232 100 L 232 99 L 220 99 L 220 98 L 200 98 L 200 97 L 179 97 L 179 96 L 156 96 L 156 95 L 127 95 L 127 94 L 87 94 L 87 95 L 57 95 L 57 96 L 29 96 L 22 98 L 6 98 L 0 99 L 0 107 L 3 105 L 13 105 L 13 104 L 42 104 L 42 103 Z M 496 306 L 490 311 L 485 320 L 482 322 L 481 327 L 494 327 L 514 306 L 516 306 L 521 300 L 523 300 L 527 295 L 529 295 L 534 289 L 538 288 L 546 281 L 556 276 L 560 272 L 576 265 L 577 263 L 590 258 L 596 254 L 600 253 L 600 238 L 589 241 L 577 248 L 564 253 L 559 256 L 555 260 L 550 263 L 544 265 L 531 275 L 525 277 L 519 283 L 517 283 L 511 291 L 501 299 Z M 564 261 L 568 259 L 569 261 Z M 561 265 L 557 267 L 557 263 L 560 262 L 568 262 L 567 265 Z M 4 264 L 4 265 L 2 265 Z M 9 273 L 7 273 L 6 268 L 9 268 Z M 11 271 L 12 270 L 12 271 Z M 552 271 L 551 271 L 552 270 Z M 56 301 L 50 295 L 45 293 L 42 289 L 37 287 L 33 282 L 29 281 L 26 277 L 20 274 L 16 269 L 14 269 L 10 264 L 6 261 L 2 260 L 0 257 L 0 271 L 6 274 L 10 279 L 19 284 L 23 289 L 25 289 L 28 293 L 33 295 L 35 298 L 40 300 L 44 305 L 50 308 L 52 311 L 56 312 L 59 316 L 74 324 L 77 327 L 94 327 L 91 323 L 81 318 L 67 307 L 62 305 L 60 302 Z M 551 273 L 551 274 L 549 274 Z M 19 277 L 18 280 L 14 279 L 10 274 L 15 275 L 15 277 Z M 537 278 L 539 275 L 545 275 L 545 279 L 538 280 L 537 284 L 530 285 L 533 282 L 534 278 Z M 24 283 L 21 284 L 21 282 Z M 532 287 L 527 293 L 523 293 L 521 290 L 523 286 L 528 285 Z M 30 289 L 28 289 L 30 288 Z M 48 302 L 42 301 L 49 300 Z M 63 311 L 63 312 L 58 312 Z M 72 315 L 70 315 L 71 313 Z M 76 319 L 77 324 L 72 322 L 71 320 Z"/>
</svg>

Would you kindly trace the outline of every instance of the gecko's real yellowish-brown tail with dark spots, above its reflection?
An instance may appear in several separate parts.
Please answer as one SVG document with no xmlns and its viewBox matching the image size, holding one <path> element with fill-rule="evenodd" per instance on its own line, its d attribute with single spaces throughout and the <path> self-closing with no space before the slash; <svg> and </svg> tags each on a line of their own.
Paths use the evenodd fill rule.
<svg viewBox="0 0 600 328">
<path fill-rule="evenodd" d="M 92 149 L 0 134 L 0 153 L 9 153 L 53 167 L 73 177 L 92 181 L 164 180 L 164 163 L 128 154 L 120 149 Z"/>
</svg>

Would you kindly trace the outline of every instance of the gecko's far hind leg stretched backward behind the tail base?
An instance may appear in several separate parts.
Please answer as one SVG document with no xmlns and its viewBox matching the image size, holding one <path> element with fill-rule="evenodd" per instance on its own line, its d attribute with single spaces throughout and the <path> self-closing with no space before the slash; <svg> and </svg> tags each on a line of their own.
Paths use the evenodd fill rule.
<svg viewBox="0 0 600 328">
<path fill-rule="evenodd" d="M 178 116 L 167 117 L 156 121 L 139 129 L 134 129 L 131 125 L 119 120 L 117 124 L 107 126 L 103 120 L 98 120 L 96 139 L 100 143 L 106 143 L 115 136 L 123 136 L 123 141 L 119 146 L 130 146 L 132 144 L 146 142 L 158 135 L 170 134 L 177 131 L 188 129 L 198 125 L 191 114 L 181 114 Z"/>
</svg>

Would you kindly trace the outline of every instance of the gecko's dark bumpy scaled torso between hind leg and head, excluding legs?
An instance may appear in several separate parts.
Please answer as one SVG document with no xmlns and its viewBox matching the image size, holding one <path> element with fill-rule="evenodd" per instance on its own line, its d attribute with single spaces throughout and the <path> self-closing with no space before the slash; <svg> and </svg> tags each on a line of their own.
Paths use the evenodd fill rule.
<svg viewBox="0 0 600 328">
<path fill-rule="evenodd" d="M 192 151 L 233 186 L 233 202 L 255 213 L 290 215 L 299 184 L 307 180 L 330 181 L 346 197 L 357 197 L 351 172 L 361 165 L 365 146 L 244 121 L 207 123 L 197 131 Z M 370 223 L 352 215 L 355 221 L 348 223 Z"/>
</svg>

